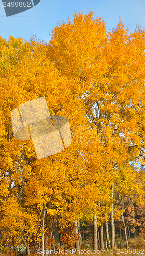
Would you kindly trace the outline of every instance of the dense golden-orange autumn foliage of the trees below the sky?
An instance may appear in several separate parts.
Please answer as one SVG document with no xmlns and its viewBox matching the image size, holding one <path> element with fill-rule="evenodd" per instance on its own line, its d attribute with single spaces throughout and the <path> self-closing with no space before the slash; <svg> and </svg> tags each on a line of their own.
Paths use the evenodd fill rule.
<svg viewBox="0 0 145 256">
<path fill-rule="evenodd" d="M 121 19 L 107 32 L 90 12 L 56 26 L 48 44 L 0 38 L 3 250 L 24 245 L 30 255 L 40 241 L 45 248 L 56 221 L 70 248 L 73 223 L 92 219 L 94 209 L 98 226 L 109 221 L 116 195 L 144 205 L 144 173 L 135 167 L 144 163 L 144 35 L 129 34 Z M 69 119 L 72 143 L 37 159 L 32 140 L 14 138 L 11 112 L 43 96 L 51 115 Z M 116 205 L 114 219 L 121 215 Z"/>
</svg>

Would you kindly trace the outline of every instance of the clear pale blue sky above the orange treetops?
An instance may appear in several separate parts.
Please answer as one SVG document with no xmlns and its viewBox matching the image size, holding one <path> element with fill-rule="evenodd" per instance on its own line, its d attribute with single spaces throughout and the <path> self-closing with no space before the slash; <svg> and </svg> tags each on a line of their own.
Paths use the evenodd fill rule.
<svg viewBox="0 0 145 256">
<path fill-rule="evenodd" d="M 16 0 L 13 0 L 16 1 Z M 92 9 L 94 17 L 102 17 L 107 30 L 116 27 L 121 17 L 129 32 L 136 25 L 145 28 L 145 0 L 41 0 L 35 7 L 17 15 L 6 17 L 0 0 L 0 36 L 8 39 L 10 35 L 29 40 L 32 34 L 48 42 L 51 30 L 62 20 L 72 20 L 74 12 L 88 14 Z"/>
</svg>

